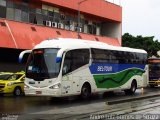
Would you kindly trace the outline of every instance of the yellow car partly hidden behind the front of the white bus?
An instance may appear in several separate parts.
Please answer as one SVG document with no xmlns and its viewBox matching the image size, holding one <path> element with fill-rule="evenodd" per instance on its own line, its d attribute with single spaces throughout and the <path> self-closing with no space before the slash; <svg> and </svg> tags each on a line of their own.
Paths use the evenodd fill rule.
<svg viewBox="0 0 160 120">
<path fill-rule="evenodd" d="M 24 93 L 24 72 L 0 73 L 0 94 L 12 93 L 20 96 Z"/>
</svg>

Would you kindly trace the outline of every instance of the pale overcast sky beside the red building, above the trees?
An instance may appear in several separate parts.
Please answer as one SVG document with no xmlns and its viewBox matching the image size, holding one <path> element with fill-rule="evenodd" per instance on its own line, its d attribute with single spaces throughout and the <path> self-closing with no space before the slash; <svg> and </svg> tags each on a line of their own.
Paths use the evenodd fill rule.
<svg viewBox="0 0 160 120">
<path fill-rule="evenodd" d="M 160 0 L 108 0 L 122 6 L 122 34 L 160 41 Z"/>
</svg>

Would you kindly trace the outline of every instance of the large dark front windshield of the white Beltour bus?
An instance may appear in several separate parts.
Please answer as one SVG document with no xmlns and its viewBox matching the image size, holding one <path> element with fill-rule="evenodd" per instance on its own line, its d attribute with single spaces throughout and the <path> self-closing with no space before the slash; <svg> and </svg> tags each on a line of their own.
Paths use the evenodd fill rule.
<svg viewBox="0 0 160 120">
<path fill-rule="evenodd" d="M 56 62 L 58 50 L 53 48 L 33 50 L 27 61 L 26 77 L 36 81 L 56 78 L 60 71 L 60 63 Z"/>
</svg>

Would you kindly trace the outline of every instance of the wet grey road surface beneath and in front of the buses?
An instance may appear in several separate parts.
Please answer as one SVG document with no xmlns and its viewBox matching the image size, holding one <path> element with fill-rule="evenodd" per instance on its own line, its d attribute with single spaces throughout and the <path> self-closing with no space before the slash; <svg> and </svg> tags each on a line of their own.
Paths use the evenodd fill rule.
<svg viewBox="0 0 160 120">
<path fill-rule="evenodd" d="M 141 119 L 146 117 L 144 116 L 146 113 L 160 113 L 160 87 L 138 89 L 136 94 L 132 96 L 125 95 L 121 91 L 97 94 L 93 95 L 90 100 L 81 100 L 78 97 L 58 99 L 0 96 L 1 119 L 10 115 L 14 115 L 10 117 L 22 120 L 87 120 L 98 117 L 106 119 L 107 116 L 112 116 L 113 119 L 115 116 L 128 114 L 135 114 L 137 118 Z"/>
</svg>

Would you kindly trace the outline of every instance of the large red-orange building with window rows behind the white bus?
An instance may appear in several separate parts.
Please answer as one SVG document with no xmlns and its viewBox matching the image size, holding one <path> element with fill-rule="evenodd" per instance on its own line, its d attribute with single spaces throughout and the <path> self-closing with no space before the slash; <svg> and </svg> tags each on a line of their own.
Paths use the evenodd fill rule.
<svg viewBox="0 0 160 120">
<path fill-rule="evenodd" d="M 44 39 L 121 46 L 121 29 L 122 8 L 105 0 L 0 0 L 0 71 L 22 69 L 19 53 Z"/>
</svg>

